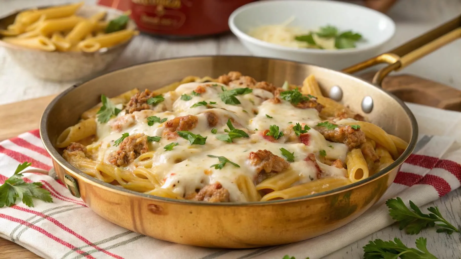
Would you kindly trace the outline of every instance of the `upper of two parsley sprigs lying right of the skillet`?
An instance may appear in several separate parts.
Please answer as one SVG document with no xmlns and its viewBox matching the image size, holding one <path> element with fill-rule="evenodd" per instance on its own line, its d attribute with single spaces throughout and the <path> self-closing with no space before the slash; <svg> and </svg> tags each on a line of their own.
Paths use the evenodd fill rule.
<svg viewBox="0 0 461 259">
<path fill-rule="evenodd" d="M 455 226 L 442 217 L 437 207 L 429 207 L 427 210 L 431 213 L 424 214 L 413 201 L 409 201 L 409 203 L 413 210 L 408 209 L 400 197 L 386 201 L 386 206 L 390 208 L 389 214 L 392 219 L 399 223 L 400 230 L 406 228 L 407 234 L 413 235 L 420 233 L 423 228 L 437 226 L 439 227 L 437 228 L 437 233 L 446 232 L 451 234 L 453 231 L 459 232 Z M 436 224 L 436 222 L 440 223 Z"/>
</svg>

